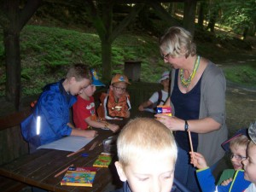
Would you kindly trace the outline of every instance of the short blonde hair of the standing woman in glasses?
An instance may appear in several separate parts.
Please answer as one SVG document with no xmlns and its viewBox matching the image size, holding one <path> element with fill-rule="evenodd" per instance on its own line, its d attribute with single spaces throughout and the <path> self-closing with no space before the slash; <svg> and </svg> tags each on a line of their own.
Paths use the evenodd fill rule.
<svg viewBox="0 0 256 192">
<path fill-rule="evenodd" d="M 182 27 L 172 26 L 160 38 L 160 51 L 172 57 L 185 55 L 187 58 L 196 54 L 196 45 L 190 32 Z"/>
</svg>

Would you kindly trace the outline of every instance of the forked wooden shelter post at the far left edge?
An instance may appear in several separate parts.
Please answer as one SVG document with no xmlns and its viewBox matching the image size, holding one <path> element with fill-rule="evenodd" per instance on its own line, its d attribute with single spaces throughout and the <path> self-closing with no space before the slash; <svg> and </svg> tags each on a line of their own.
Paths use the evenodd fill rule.
<svg viewBox="0 0 256 192">
<path fill-rule="evenodd" d="M 42 0 L 17 0 L 0 2 L 0 25 L 3 27 L 3 41 L 6 65 L 5 97 L 12 102 L 15 110 L 20 110 L 21 64 L 20 31 L 40 6 Z"/>
</svg>

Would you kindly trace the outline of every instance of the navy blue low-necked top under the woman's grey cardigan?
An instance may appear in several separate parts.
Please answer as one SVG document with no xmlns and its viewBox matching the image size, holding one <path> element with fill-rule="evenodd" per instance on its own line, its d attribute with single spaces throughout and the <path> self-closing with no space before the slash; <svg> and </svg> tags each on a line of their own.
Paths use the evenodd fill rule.
<svg viewBox="0 0 256 192">
<path fill-rule="evenodd" d="M 172 90 L 171 101 L 175 108 L 175 116 L 179 119 L 190 120 L 199 118 L 201 102 L 201 79 L 188 93 L 182 93 L 177 85 L 178 70 L 175 72 L 175 82 Z M 189 134 L 186 131 L 175 131 L 175 139 L 180 148 L 190 151 Z M 196 151 L 198 145 L 198 134 L 191 132 L 193 149 Z"/>
</svg>

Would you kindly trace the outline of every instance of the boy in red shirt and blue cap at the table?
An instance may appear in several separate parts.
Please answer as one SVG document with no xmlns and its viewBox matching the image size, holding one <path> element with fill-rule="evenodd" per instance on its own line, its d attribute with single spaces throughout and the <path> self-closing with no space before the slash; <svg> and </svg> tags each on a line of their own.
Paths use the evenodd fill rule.
<svg viewBox="0 0 256 192">
<path fill-rule="evenodd" d="M 98 79 L 96 71 L 91 70 L 92 83 L 84 88 L 79 94 L 78 101 L 73 104 L 73 121 L 76 127 L 86 130 L 89 126 L 95 128 L 109 129 L 113 132 L 119 130 L 119 125 L 109 124 L 107 121 L 97 119 L 93 94 L 96 86 L 105 86 Z"/>
</svg>

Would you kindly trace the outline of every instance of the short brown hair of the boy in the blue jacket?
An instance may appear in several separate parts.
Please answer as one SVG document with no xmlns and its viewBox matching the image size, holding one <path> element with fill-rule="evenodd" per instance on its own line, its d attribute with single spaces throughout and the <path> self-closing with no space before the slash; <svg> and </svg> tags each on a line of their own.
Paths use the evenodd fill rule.
<svg viewBox="0 0 256 192">
<path fill-rule="evenodd" d="M 77 81 L 91 79 L 90 69 L 83 63 L 74 64 L 67 72 L 67 79 L 75 78 Z"/>
</svg>

